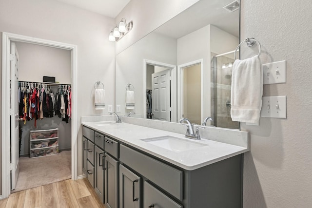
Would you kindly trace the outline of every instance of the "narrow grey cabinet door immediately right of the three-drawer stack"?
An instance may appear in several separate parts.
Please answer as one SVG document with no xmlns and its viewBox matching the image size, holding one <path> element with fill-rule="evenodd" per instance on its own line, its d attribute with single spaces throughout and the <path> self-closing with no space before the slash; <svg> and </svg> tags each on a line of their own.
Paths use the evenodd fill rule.
<svg viewBox="0 0 312 208">
<path fill-rule="evenodd" d="M 97 146 L 94 151 L 95 174 L 94 174 L 94 189 L 98 194 L 99 200 L 104 202 L 104 151 Z"/>
</svg>

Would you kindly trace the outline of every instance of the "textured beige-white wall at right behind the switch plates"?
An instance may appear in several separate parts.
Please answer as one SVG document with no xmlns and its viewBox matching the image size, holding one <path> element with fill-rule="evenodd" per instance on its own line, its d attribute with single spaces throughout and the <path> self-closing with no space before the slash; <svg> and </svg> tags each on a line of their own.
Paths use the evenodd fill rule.
<svg viewBox="0 0 312 208">
<path fill-rule="evenodd" d="M 312 207 L 311 0 L 241 0 L 241 40 L 256 38 L 262 63 L 286 60 L 286 84 L 264 85 L 264 96 L 287 96 L 287 119 L 260 118 L 244 156 L 245 208 Z M 264 6 L 265 5 L 265 6 Z M 242 58 L 258 48 L 241 47 Z"/>
</svg>

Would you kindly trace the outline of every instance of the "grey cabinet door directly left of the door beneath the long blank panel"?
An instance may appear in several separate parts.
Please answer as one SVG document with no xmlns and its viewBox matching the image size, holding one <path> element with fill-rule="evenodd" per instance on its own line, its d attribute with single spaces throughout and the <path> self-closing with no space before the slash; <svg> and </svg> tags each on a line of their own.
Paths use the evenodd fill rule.
<svg viewBox="0 0 312 208">
<path fill-rule="evenodd" d="M 105 153 L 105 206 L 118 208 L 118 161 Z"/>
</svg>

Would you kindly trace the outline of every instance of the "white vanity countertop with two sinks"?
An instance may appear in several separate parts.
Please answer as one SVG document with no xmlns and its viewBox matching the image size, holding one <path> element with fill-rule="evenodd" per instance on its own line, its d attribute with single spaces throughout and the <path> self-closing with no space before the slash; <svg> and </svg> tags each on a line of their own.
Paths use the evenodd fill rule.
<svg viewBox="0 0 312 208">
<path fill-rule="evenodd" d="M 203 138 L 201 140 L 188 139 L 184 137 L 184 134 L 138 126 L 125 122 L 121 124 L 117 124 L 115 121 L 82 122 L 82 125 L 106 134 L 141 151 L 152 154 L 185 170 L 195 170 L 249 151 L 247 147 Z M 206 145 L 186 151 L 176 152 L 141 140 L 167 135 Z"/>
</svg>

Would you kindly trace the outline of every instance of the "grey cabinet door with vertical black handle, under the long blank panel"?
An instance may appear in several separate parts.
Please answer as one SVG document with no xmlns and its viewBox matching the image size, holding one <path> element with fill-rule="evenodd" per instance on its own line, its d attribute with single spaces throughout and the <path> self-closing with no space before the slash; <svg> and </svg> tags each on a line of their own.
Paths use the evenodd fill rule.
<svg viewBox="0 0 312 208">
<path fill-rule="evenodd" d="M 131 170 L 119 165 L 119 206 L 140 208 L 141 179 Z"/>
</svg>

